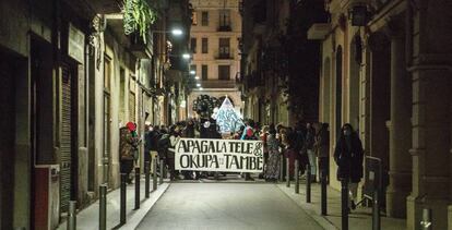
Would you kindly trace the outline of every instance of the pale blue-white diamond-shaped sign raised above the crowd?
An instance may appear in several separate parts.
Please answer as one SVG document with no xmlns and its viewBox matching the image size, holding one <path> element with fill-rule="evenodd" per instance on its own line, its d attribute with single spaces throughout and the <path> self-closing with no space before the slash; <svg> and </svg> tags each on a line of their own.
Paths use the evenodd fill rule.
<svg viewBox="0 0 452 230">
<path fill-rule="evenodd" d="M 222 133 L 230 133 L 240 130 L 243 122 L 240 114 L 236 112 L 229 98 L 225 98 L 216 114 L 214 114 L 216 124 L 219 126 Z"/>
</svg>

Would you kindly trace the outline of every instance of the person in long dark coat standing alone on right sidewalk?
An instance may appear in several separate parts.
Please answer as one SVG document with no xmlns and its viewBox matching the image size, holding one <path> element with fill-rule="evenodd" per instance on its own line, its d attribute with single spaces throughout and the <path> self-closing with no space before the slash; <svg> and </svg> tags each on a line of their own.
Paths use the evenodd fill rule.
<svg viewBox="0 0 452 230">
<path fill-rule="evenodd" d="M 358 183 L 364 174 L 364 149 L 358 134 L 350 124 L 342 126 L 341 136 L 334 149 L 334 161 L 337 165 L 337 180 L 348 181 L 349 208 L 355 209 Z"/>
</svg>

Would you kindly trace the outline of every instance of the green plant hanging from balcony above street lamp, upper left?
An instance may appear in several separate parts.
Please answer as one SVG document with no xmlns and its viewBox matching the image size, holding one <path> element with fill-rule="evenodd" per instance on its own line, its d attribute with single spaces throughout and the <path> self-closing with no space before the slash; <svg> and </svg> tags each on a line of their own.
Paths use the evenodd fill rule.
<svg viewBox="0 0 452 230">
<path fill-rule="evenodd" d="M 122 7 L 124 34 L 139 33 L 146 44 L 146 33 L 157 20 L 157 11 L 146 0 L 124 0 Z"/>
</svg>

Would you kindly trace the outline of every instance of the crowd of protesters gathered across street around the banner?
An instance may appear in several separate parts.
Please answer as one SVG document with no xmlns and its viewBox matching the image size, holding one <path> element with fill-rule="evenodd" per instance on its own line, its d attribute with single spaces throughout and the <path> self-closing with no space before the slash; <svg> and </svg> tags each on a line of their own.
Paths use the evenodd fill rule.
<svg viewBox="0 0 452 230">
<path fill-rule="evenodd" d="M 128 132 L 129 131 L 129 132 Z M 136 135 L 136 126 L 129 122 L 121 135 L 127 140 L 121 146 L 121 172 L 130 173 L 133 161 L 136 164 L 138 149 L 141 138 Z M 170 180 L 200 179 L 209 175 L 217 175 L 218 172 L 194 172 L 175 170 L 175 146 L 179 138 L 233 138 L 233 140 L 260 140 L 263 142 L 264 171 L 259 177 L 269 182 L 275 182 L 287 171 L 288 178 L 294 179 L 298 173 L 301 177 L 310 177 L 316 183 L 320 173 L 324 173 L 329 180 L 330 159 L 330 133 L 328 123 L 305 123 L 298 122 L 294 128 L 283 124 L 263 125 L 245 120 L 239 131 L 221 134 L 215 120 L 188 120 L 174 125 L 146 125 L 144 140 L 144 160 L 164 160 L 164 166 L 169 172 Z M 295 161 L 299 162 L 299 171 L 295 171 Z M 364 150 L 358 134 L 350 124 L 344 124 L 338 142 L 334 149 L 334 160 L 338 166 L 337 180 L 348 180 L 350 187 L 350 207 L 355 208 L 357 183 L 362 179 Z M 281 167 L 284 167 L 282 169 Z M 307 167 L 310 168 L 310 175 L 306 175 Z M 246 180 L 253 180 L 250 173 L 243 173 Z"/>
</svg>

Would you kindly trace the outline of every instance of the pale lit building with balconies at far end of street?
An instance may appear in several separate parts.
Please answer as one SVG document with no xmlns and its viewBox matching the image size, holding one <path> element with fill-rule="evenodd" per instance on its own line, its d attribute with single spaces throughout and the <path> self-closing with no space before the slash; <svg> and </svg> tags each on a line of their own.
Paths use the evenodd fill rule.
<svg viewBox="0 0 452 230">
<path fill-rule="evenodd" d="M 240 72 L 241 16 L 238 0 L 191 0 L 193 23 L 190 70 L 195 71 L 197 87 L 189 96 L 189 117 L 195 117 L 193 101 L 200 95 L 227 96 L 240 111 L 242 101 L 236 87 Z"/>
</svg>

